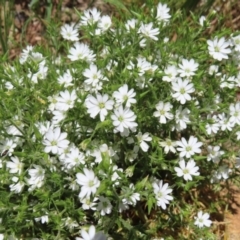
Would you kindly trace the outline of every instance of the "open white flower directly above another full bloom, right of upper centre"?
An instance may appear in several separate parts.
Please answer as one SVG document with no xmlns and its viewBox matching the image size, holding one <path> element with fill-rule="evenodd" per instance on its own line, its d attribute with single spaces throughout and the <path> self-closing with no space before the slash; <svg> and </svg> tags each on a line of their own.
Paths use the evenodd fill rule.
<svg viewBox="0 0 240 240">
<path fill-rule="evenodd" d="M 195 75 L 195 72 L 198 69 L 199 64 L 194 61 L 194 59 L 182 59 L 182 63 L 180 63 L 178 69 L 178 73 L 180 73 L 180 77 L 191 77 Z"/>
</svg>

